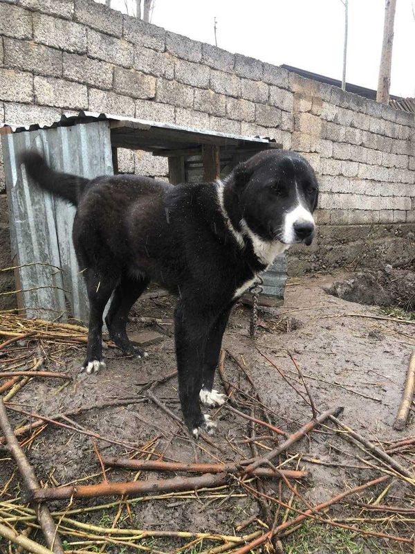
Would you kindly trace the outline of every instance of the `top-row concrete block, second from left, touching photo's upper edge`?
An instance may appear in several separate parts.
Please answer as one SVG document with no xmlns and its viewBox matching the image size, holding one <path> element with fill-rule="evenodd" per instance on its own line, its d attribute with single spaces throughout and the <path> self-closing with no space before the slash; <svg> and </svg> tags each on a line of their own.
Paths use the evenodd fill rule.
<svg viewBox="0 0 415 554">
<path fill-rule="evenodd" d="M 122 35 L 122 13 L 93 0 L 75 0 L 73 19 L 107 35 Z"/>
</svg>

